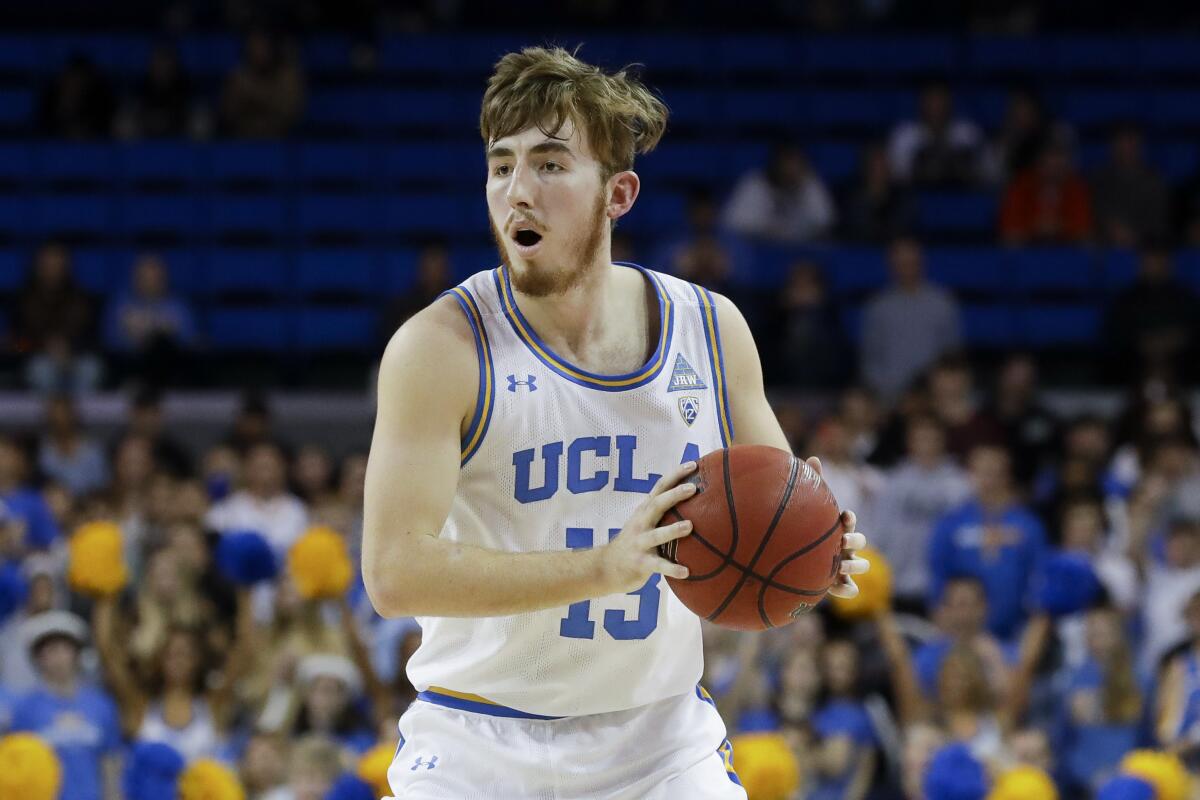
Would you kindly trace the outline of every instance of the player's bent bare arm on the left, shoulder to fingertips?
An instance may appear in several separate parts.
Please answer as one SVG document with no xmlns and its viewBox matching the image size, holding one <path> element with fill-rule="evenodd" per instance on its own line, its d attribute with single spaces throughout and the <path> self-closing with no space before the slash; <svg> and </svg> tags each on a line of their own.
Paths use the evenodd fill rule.
<svg viewBox="0 0 1200 800">
<path fill-rule="evenodd" d="M 605 547 L 504 553 L 438 537 L 458 485 L 460 437 L 474 414 L 476 357 L 450 297 L 406 323 L 384 353 L 362 525 L 362 578 L 376 610 L 503 616 L 630 591 L 655 572 L 686 577 L 656 548 L 686 535 L 690 523 L 655 524 L 695 492 L 678 485 L 691 464 L 664 475 Z"/>
</svg>

